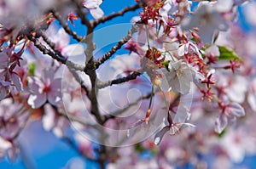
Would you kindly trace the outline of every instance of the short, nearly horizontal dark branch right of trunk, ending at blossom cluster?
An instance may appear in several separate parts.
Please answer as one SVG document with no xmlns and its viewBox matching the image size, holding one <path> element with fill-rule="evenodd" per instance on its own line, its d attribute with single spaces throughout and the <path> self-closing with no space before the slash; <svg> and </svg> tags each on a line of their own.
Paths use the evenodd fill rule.
<svg viewBox="0 0 256 169">
<path fill-rule="evenodd" d="M 129 82 L 131 80 L 135 80 L 137 78 L 137 76 L 142 75 L 142 71 L 143 70 L 137 70 L 125 77 L 114 79 L 114 80 L 108 81 L 108 82 L 100 82 L 99 84 L 97 84 L 97 87 L 100 89 L 100 88 L 112 86 L 114 84 L 120 84 L 123 82 Z"/>
</svg>

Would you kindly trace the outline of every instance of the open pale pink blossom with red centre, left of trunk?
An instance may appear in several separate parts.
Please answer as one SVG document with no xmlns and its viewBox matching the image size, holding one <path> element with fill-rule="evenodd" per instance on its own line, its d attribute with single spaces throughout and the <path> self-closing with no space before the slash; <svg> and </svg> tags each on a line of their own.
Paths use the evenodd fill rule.
<svg viewBox="0 0 256 169">
<path fill-rule="evenodd" d="M 61 101 L 61 78 L 54 78 L 53 69 L 43 70 L 41 78 L 31 76 L 28 79 L 30 96 L 27 103 L 36 109 L 42 106 L 47 100 L 50 104 L 57 105 Z"/>
</svg>

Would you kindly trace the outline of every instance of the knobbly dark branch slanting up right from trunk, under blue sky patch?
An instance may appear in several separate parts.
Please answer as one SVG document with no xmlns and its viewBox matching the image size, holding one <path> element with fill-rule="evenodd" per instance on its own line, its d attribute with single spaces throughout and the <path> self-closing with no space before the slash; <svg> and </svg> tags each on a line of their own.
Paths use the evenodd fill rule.
<svg viewBox="0 0 256 169">
<path fill-rule="evenodd" d="M 96 61 L 96 68 L 98 68 L 113 54 L 115 54 L 117 50 L 119 50 L 126 42 L 128 42 L 131 39 L 132 34 L 134 34 L 135 32 L 137 32 L 137 24 L 132 25 L 131 30 L 128 31 L 128 34 L 125 37 L 123 37 L 115 46 L 113 46 L 106 54 L 104 54 L 101 59 L 98 59 Z"/>
</svg>

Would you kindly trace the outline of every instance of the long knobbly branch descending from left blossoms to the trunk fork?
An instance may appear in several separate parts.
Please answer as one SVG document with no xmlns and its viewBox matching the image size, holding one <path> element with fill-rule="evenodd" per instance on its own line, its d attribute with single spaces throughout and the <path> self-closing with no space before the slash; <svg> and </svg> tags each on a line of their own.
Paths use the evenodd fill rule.
<svg viewBox="0 0 256 169">
<path fill-rule="evenodd" d="M 78 65 L 73 63 L 70 60 L 67 60 L 67 58 L 59 57 L 58 55 L 54 54 L 54 52 L 50 51 L 49 49 L 45 48 L 44 45 L 38 41 L 36 37 L 33 37 L 31 34 L 26 36 L 30 41 L 34 43 L 34 46 L 37 47 L 43 54 L 48 54 L 52 59 L 55 59 L 59 62 L 61 62 L 64 65 L 67 65 L 67 67 L 71 67 L 75 70 L 84 70 L 83 65 Z"/>
</svg>

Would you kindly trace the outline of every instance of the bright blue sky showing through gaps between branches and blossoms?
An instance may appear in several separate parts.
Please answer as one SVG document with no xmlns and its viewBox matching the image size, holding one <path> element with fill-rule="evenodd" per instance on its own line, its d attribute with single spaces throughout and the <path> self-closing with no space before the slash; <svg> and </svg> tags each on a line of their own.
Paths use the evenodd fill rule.
<svg viewBox="0 0 256 169">
<path fill-rule="evenodd" d="M 135 4 L 134 0 L 105 0 L 102 3 L 101 8 L 107 15 L 111 14 L 113 11 L 119 11 L 128 5 L 131 6 L 132 4 Z M 100 30 L 108 25 L 129 23 L 132 16 L 135 15 L 137 15 L 137 12 L 127 13 L 123 17 L 118 17 L 106 24 L 99 25 L 96 29 Z M 244 20 L 239 20 L 239 23 L 247 31 L 253 29 L 247 25 Z M 77 21 L 76 26 L 72 26 L 73 30 L 77 31 L 79 35 L 84 35 L 84 28 L 81 28 L 79 25 L 80 23 Z M 96 44 L 98 44 L 98 46 L 107 44 L 109 38 L 119 40 L 126 35 L 130 28 L 131 26 L 128 24 L 122 25 L 121 27 L 114 26 L 114 29 L 105 29 L 108 33 L 103 32 L 100 33 L 100 36 L 96 36 Z M 75 41 L 72 40 L 72 43 L 74 42 Z M 103 48 L 103 51 L 107 51 L 109 48 L 111 48 L 111 46 Z M 119 54 L 122 54 L 123 52 L 124 51 L 120 51 Z M 18 156 L 14 163 L 10 163 L 7 157 L 3 159 L 3 161 L 0 162 L 0 169 L 26 169 L 26 166 L 21 161 L 24 158 L 27 163 L 32 166 L 30 169 L 65 168 L 65 166 L 67 166 L 67 161 L 70 161 L 73 158 L 79 158 L 80 161 L 84 161 L 84 165 L 86 165 L 84 168 L 98 168 L 96 164 L 84 160 L 79 153 L 71 148 L 65 141 L 56 138 L 51 132 L 45 132 L 42 128 L 42 124 L 38 121 L 32 122 L 29 127 L 26 127 L 20 134 L 19 143 L 23 153 Z M 254 156 L 248 156 L 240 165 L 238 165 L 238 168 L 244 165 L 249 166 L 249 168 L 256 168 L 256 158 Z M 191 167 L 186 166 L 186 168 Z"/>
</svg>

